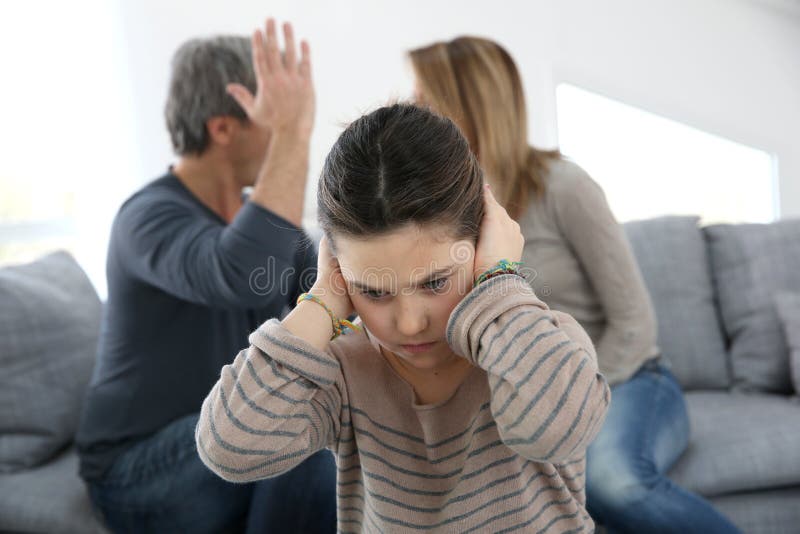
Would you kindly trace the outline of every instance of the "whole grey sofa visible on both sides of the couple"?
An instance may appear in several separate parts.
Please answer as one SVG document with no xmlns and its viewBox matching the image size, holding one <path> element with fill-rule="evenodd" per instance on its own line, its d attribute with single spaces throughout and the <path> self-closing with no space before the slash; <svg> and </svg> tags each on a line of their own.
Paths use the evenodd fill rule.
<svg viewBox="0 0 800 534">
<path fill-rule="evenodd" d="M 670 476 L 746 533 L 800 532 L 800 221 L 625 230 L 687 392 L 691 442 Z M 64 253 L 0 269 L 0 531 L 103 532 L 70 445 L 100 306 Z"/>
</svg>

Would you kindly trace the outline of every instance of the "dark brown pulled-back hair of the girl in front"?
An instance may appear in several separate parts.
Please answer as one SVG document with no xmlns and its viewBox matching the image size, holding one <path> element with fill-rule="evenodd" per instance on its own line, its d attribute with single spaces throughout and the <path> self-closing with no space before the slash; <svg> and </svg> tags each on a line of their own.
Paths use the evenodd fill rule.
<svg viewBox="0 0 800 534">
<path fill-rule="evenodd" d="M 357 119 L 336 140 L 320 176 L 317 213 L 329 238 L 417 224 L 475 242 L 482 186 L 478 161 L 451 120 L 395 104 Z"/>
</svg>

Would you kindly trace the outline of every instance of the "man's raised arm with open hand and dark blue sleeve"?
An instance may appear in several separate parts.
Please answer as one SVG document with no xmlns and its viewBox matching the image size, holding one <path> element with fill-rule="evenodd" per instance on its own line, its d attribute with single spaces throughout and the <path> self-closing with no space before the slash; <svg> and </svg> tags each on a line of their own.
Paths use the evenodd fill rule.
<svg viewBox="0 0 800 534">
<path fill-rule="evenodd" d="M 291 25 L 285 58 L 275 21 L 253 35 L 257 92 L 227 90 L 258 128 L 270 133 L 259 177 L 230 225 L 199 220 L 179 202 L 140 197 L 115 223 L 117 254 L 138 278 L 184 300 L 213 307 L 260 307 L 290 297 L 285 275 L 304 246 L 303 214 L 314 90 L 308 44 L 297 60 Z M 294 273 L 297 276 L 299 273 Z M 297 283 L 290 280 L 289 287 Z"/>
</svg>

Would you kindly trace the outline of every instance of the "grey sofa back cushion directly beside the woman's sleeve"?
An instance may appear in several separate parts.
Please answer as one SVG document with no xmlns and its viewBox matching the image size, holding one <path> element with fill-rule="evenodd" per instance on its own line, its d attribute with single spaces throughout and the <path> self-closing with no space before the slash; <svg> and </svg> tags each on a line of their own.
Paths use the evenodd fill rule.
<svg viewBox="0 0 800 534">
<path fill-rule="evenodd" d="M 697 217 L 624 225 L 658 320 L 658 345 L 686 389 L 730 386 L 725 341 Z"/>
</svg>

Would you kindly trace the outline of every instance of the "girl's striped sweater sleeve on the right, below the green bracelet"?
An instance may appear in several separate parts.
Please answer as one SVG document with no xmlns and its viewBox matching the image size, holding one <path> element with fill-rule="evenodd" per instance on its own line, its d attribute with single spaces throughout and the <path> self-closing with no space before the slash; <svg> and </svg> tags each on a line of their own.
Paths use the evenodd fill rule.
<svg viewBox="0 0 800 534">
<path fill-rule="evenodd" d="M 453 350 L 489 376 L 500 438 L 525 458 L 562 463 L 582 455 L 611 399 L 589 337 L 550 310 L 525 280 L 492 278 L 453 310 Z"/>
</svg>

